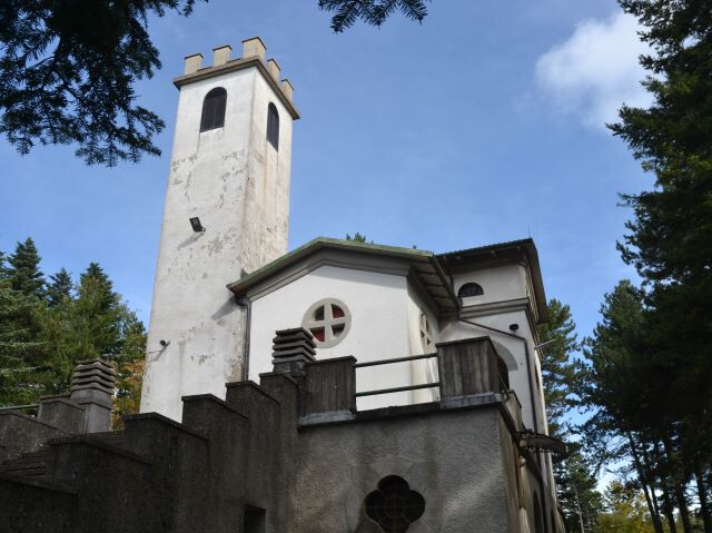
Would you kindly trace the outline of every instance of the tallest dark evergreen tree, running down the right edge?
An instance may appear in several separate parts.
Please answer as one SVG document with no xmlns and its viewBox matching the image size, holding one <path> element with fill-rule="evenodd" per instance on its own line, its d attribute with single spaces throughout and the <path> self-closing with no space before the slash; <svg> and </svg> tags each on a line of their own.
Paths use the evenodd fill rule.
<svg viewBox="0 0 712 533">
<path fill-rule="evenodd" d="M 706 433 L 712 412 L 712 10 L 706 1 L 621 0 L 653 53 L 642 58 L 649 109 L 611 129 L 655 177 L 624 195 L 634 219 L 620 249 L 647 287 L 644 406 Z M 694 397 L 694 402 L 681 398 Z"/>
</svg>

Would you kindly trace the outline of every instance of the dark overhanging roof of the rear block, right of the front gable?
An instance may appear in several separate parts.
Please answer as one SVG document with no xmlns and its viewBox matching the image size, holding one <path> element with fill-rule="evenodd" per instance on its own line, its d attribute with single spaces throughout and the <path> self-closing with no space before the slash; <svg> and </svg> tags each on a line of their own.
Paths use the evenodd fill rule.
<svg viewBox="0 0 712 533">
<path fill-rule="evenodd" d="M 534 299 L 540 322 L 546 322 L 547 307 L 544 282 L 538 263 L 538 253 L 531 238 L 478 246 L 463 250 L 448 251 L 436 256 L 446 272 L 467 270 L 486 267 L 490 264 L 524 261 L 528 266 L 534 288 Z"/>
</svg>

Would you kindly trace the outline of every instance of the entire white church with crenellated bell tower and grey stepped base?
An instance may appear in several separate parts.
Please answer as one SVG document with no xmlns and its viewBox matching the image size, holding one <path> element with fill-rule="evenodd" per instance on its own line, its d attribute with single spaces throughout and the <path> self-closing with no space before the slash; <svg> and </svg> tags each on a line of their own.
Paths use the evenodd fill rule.
<svg viewBox="0 0 712 533">
<path fill-rule="evenodd" d="M 565 531 L 534 241 L 435 254 L 316 237 L 288 251 L 294 88 L 259 38 L 202 59 L 174 80 L 141 413 L 121 432 L 46 415 L 32 433 L 38 421 L 0 415 L 0 445 L 16 432 L 51 451 L 41 477 L 0 467 L 0 510 L 65 531 L 22 522 L 12 490 L 67 531 Z M 96 491 L 116 465 L 141 487 L 119 506 L 155 511 L 123 529 L 97 501 L 121 493 Z"/>
</svg>

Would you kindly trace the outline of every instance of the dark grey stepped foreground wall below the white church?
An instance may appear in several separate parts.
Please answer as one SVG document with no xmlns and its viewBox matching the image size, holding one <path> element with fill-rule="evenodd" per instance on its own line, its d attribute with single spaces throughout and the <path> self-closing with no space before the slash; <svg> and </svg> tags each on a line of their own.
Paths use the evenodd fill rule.
<svg viewBox="0 0 712 533">
<path fill-rule="evenodd" d="M 473 343 L 456 351 L 492 355 L 488 339 Z M 50 438 L 6 463 L 0 532 L 377 533 L 365 502 L 392 476 L 424 501 L 408 533 L 530 531 L 512 396 L 358 412 L 354 358 L 322 369 L 284 355 L 260 385 L 227 384 L 225 401 L 185 396 L 181 423 L 127 416 L 122 432 Z M 22 461 L 41 464 L 23 476 Z"/>
</svg>

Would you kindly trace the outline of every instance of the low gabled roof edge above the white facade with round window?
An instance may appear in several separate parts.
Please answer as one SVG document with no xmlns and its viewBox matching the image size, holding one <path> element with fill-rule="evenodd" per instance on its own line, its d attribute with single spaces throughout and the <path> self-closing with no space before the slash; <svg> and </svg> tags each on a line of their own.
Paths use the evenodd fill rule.
<svg viewBox="0 0 712 533">
<path fill-rule="evenodd" d="M 295 248 L 288 254 L 268 263 L 251 274 L 244 276 L 237 282 L 227 285 L 236 295 L 244 295 L 250 288 L 256 287 L 273 277 L 277 277 L 288 267 L 306 259 L 307 257 L 322 250 L 340 250 L 356 254 L 376 255 L 380 257 L 400 259 L 408 264 L 409 272 L 414 275 L 416 283 L 428 294 L 433 302 L 443 310 L 456 310 L 459 307 L 459 299 L 453 293 L 453 287 L 441 268 L 434 253 L 414 248 L 402 248 L 398 246 L 374 245 L 359 243 L 356 240 L 334 239 L 329 237 L 317 237 L 314 240 Z"/>
</svg>

